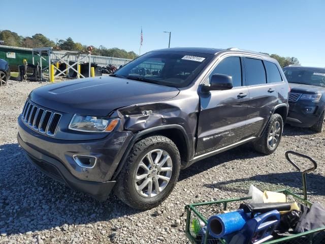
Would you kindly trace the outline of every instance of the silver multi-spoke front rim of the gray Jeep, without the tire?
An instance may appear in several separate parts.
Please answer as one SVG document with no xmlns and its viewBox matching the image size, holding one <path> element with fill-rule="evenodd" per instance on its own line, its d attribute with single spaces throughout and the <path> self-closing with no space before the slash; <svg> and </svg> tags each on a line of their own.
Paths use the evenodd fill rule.
<svg viewBox="0 0 325 244">
<path fill-rule="evenodd" d="M 135 188 L 146 198 L 151 198 L 167 187 L 173 171 L 172 159 L 163 149 L 153 149 L 140 160 L 136 175 Z"/>
</svg>

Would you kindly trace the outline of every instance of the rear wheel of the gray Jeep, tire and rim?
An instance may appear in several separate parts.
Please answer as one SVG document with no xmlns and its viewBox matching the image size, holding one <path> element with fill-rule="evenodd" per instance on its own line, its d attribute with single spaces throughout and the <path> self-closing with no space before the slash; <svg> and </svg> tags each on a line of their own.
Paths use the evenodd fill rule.
<svg viewBox="0 0 325 244">
<path fill-rule="evenodd" d="M 280 143 L 282 137 L 282 131 L 283 131 L 282 116 L 280 114 L 275 113 L 271 116 L 269 124 L 266 130 L 264 131 L 262 137 L 253 143 L 254 149 L 262 154 L 266 154 L 266 155 L 272 154 Z"/>
</svg>

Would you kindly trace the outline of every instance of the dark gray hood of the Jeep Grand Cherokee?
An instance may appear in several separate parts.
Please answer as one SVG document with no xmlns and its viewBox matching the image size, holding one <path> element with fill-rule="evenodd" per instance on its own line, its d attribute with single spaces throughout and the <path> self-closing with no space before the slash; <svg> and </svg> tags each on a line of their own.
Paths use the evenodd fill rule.
<svg viewBox="0 0 325 244">
<path fill-rule="evenodd" d="M 102 76 L 44 85 L 33 90 L 29 99 L 61 112 L 106 116 L 121 107 L 169 99 L 178 93 L 174 87 Z"/>
</svg>

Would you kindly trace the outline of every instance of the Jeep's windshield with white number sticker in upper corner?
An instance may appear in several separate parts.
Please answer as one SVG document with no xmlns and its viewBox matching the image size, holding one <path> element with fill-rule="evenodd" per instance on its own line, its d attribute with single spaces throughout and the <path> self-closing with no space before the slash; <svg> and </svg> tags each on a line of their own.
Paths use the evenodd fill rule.
<svg viewBox="0 0 325 244">
<path fill-rule="evenodd" d="M 206 53 L 154 51 L 146 53 L 112 76 L 173 87 L 185 87 L 213 57 Z"/>
</svg>

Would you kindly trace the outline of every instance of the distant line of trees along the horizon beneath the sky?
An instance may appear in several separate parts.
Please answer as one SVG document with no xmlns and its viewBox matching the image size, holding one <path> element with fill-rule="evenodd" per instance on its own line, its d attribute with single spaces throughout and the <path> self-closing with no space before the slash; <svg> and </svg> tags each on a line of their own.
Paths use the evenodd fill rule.
<svg viewBox="0 0 325 244">
<path fill-rule="evenodd" d="M 0 40 L 5 41 L 5 45 L 15 47 L 54 47 L 68 51 L 87 51 L 87 45 L 82 45 L 80 42 L 74 42 L 71 37 L 67 38 L 66 40 L 58 40 L 57 42 L 54 42 L 43 34 L 35 34 L 31 37 L 22 37 L 15 32 L 5 30 L 0 31 Z M 106 48 L 103 46 L 93 47 L 92 54 L 130 59 L 134 59 L 138 56 L 134 51 L 127 52 L 124 49 L 119 49 L 117 47 Z M 297 57 L 282 57 L 278 54 L 265 54 L 268 54 L 271 57 L 277 59 L 282 68 L 288 65 L 300 64 Z"/>
</svg>

